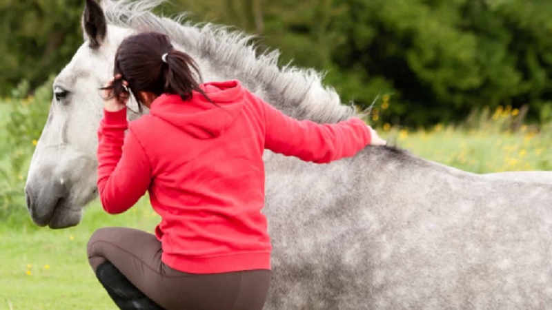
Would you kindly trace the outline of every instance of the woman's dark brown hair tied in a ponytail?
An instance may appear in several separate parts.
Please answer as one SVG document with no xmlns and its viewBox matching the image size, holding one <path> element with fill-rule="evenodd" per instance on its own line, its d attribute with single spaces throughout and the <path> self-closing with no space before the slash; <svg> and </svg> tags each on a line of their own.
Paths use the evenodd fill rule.
<svg viewBox="0 0 552 310">
<path fill-rule="evenodd" d="M 194 73 L 201 80 L 197 63 L 190 55 L 175 50 L 170 39 L 157 32 L 143 32 L 124 39 L 115 55 L 114 76 L 122 79 L 113 83 L 111 98 L 121 99 L 126 92 L 123 80 L 128 82 L 130 92 L 135 96 L 141 111 L 139 92 L 178 94 L 182 100 L 190 99 L 195 90 L 213 103 L 196 81 Z"/>
</svg>

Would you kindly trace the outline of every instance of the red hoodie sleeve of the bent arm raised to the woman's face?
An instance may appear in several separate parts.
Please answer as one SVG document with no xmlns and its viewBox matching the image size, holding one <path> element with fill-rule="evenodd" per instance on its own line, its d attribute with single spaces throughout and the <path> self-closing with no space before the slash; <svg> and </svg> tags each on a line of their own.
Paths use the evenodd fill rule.
<svg viewBox="0 0 552 310">
<path fill-rule="evenodd" d="M 151 166 L 144 148 L 128 129 L 126 110 L 104 111 L 98 130 L 98 190 L 103 209 L 121 214 L 146 194 Z"/>
</svg>

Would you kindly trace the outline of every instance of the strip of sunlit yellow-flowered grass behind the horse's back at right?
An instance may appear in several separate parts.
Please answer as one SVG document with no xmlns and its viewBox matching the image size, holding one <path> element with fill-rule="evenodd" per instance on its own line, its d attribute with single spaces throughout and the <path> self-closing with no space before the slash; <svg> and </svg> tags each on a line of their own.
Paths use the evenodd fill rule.
<svg viewBox="0 0 552 310">
<path fill-rule="evenodd" d="M 477 174 L 552 170 L 551 138 L 526 129 L 515 133 L 464 131 L 436 126 L 397 136 L 397 145 L 437 163 Z"/>
</svg>

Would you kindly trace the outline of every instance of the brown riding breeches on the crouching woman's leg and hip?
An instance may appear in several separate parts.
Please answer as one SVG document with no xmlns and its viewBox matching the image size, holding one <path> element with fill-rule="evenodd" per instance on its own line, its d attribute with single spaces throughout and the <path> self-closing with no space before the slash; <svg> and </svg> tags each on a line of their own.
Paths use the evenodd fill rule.
<svg viewBox="0 0 552 310">
<path fill-rule="evenodd" d="M 152 234 L 121 227 L 99 229 L 88 242 L 88 259 L 97 271 L 106 260 L 168 310 L 260 310 L 270 271 L 195 275 L 161 262 L 161 242 Z"/>
</svg>

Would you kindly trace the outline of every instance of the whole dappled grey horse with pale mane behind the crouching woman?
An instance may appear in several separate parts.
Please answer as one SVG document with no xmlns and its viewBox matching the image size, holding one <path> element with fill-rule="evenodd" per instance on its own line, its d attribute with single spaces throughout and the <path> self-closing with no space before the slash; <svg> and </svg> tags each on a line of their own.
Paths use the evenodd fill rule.
<svg viewBox="0 0 552 310">
<path fill-rule="evenodd" d="M 97 89 L 129 34 L 170 35 L 205 81 L 239 79 L 295 118 L 353 116 L 317 72 L 278 68 L 276 52 L 256 55 L 239 32 L 157 17 L 150 10 L 158 4 L 87 0 L 85 42 L 55 80 L 30 165 L 37 225 L 78 225 L 97 197 Z M 270 152 L 264 160 L 274 247 L 266 309 L 552 307 L 551 172 L 470 174 L 393 147 L 366 147 L 330 165 Z"/>
</svg>

